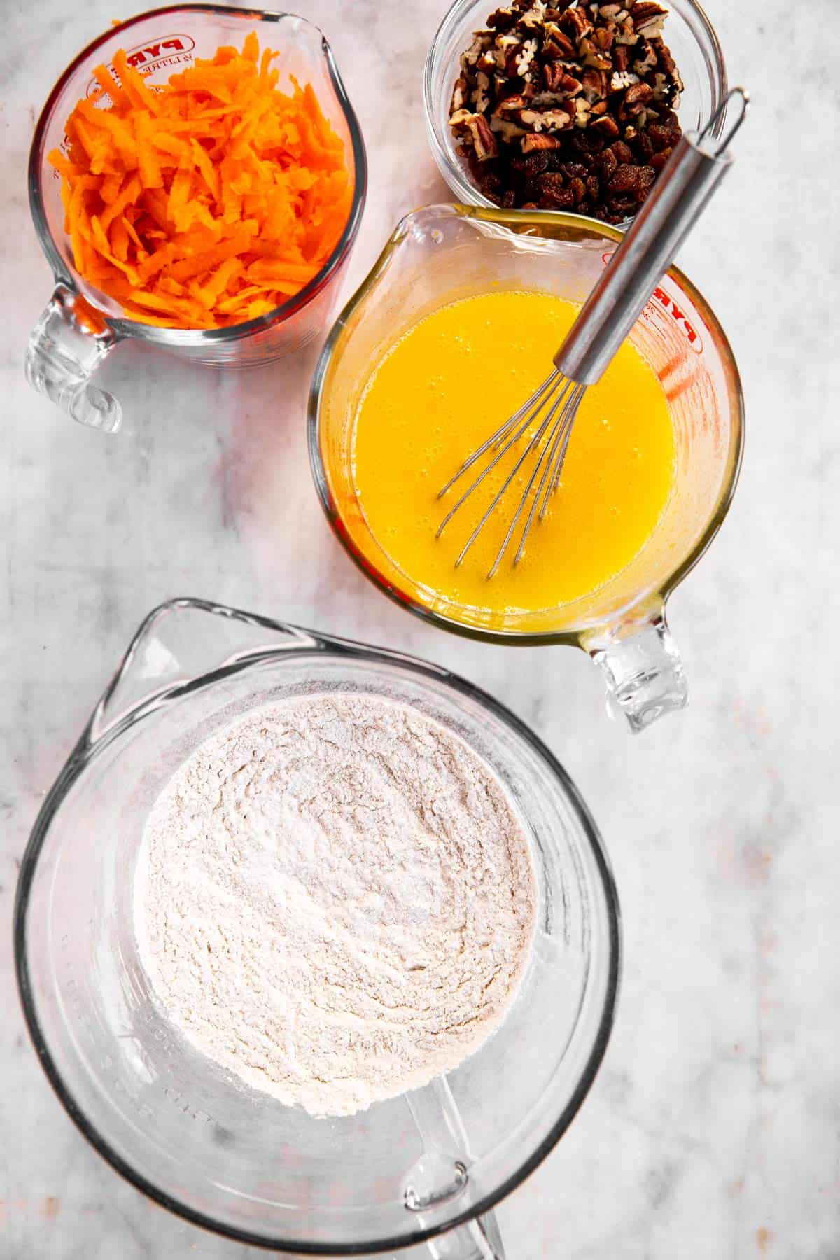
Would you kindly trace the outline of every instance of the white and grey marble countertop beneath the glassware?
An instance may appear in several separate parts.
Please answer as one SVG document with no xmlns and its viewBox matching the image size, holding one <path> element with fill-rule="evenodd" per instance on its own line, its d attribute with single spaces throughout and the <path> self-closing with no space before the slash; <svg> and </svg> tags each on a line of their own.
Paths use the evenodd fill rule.
<svg viewBox="0 0 840 1260">
<path fill-rule="evenodd" d="M 708 0 L 753 89 L 738 165 L 680 258 L 730 334 L 748 404 L 730 517 L 675 595 L 690 708 L 632 740 L 582 653 L 446 636 L 378 595 L 312 493 L 311 355 L 246 375 L 121 348 L 127 422 L 106 438 L 25 383 L 50 291 L 29 220 L 33 122 L 71 55 L 125 0 L 4 6 L 0 1257 L 225 1257 L 247 1249 L 146 1202 L 86 1145 L 35 1061 L 10 951 L 16 868 L 45 789 L 130 635 L 201 595 L 440 662 L 529 722 L 581 786 L 625 915 L 618 1019 L 568 1135 L 499 1210 L 511 1260 L 840 1255 L 840 98 L 834 0 Z M 443 0 L 298 0 L 361 118 L 370 195 L 349 292 L 408 208 L 446 199 L 419 102 Z M 821 94 L 805 127 L 796 92 Z M 379 88 L 407 93 L 388 116 Z M 829 155 L 829 156 L 826 156 Z M 278 382 L 282 387 L 278 388 Z"/>
</svg>

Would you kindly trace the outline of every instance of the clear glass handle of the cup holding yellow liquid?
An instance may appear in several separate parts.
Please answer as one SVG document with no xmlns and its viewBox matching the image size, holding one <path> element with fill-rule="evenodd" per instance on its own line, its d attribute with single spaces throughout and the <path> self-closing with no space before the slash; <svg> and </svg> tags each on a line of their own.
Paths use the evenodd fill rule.
<svg viewBox="0 0 840 1260">
<path fill-rule="evenodd" d="M 607 711 L 622 714 L 633 735 L 664 713 L 685 708 L 689 689 L 665 606 L 583 636 L 583 646 L 607 680 Z"/>
</svg>

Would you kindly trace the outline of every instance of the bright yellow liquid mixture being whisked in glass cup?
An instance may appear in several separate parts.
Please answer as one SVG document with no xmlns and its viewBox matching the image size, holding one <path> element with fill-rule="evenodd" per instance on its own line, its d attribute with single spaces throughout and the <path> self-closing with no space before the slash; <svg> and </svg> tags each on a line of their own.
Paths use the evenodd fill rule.
<svg viewBox="0 0 840 1260">
<path fill-rule="evenodd" d="M 674 480 L 674 430 L 654 369 L 625 344 L 586 393 L 559 489 L 545 519 L 534 519 L 519 564 L 516 533 L 487 581 L 524 472 L 455 567 L 513 459 L 436 538 L 457 486 L 445 499 L 437 491 L 545 379 L 577 311 L 536 292 L 460 299 L 409 329 L 372 375 L 355 417 L 356 494 L 379 546 L 412 587 L 426 588 L 427 602 L 442 597 L 500 614 L 569 604 L 620 573 L 654 532 Z"/>
</svg>

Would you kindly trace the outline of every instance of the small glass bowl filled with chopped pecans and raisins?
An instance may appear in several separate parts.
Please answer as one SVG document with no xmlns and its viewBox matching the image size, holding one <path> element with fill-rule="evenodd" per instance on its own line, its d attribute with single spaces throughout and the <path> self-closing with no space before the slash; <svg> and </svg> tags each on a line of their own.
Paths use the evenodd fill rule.
<svg viewBox="0 0 840 1260">
<path fill-rule="evenodd" d="M 456 0 L 423 82 L 432 154 L 458 200 L 618 227 L 683 130 L 703 127 L 725 94 L 695 0 Z"/>
</svg>

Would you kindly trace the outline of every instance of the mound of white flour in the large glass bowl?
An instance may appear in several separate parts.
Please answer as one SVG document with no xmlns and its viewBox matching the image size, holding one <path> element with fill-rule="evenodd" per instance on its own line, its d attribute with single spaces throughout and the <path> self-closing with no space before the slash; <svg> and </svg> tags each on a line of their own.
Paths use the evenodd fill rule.
<svg viewBox="0 0 840 1260">
<path fill-rule="evenodd" d="M 502 1019 L 535 916 L 497 780 L 416 709 L 292 699 L 184 762 L 144 834 L 135 925 L 167 1017 L 283 1102 L 351 1115 Z"/>
</svg>

